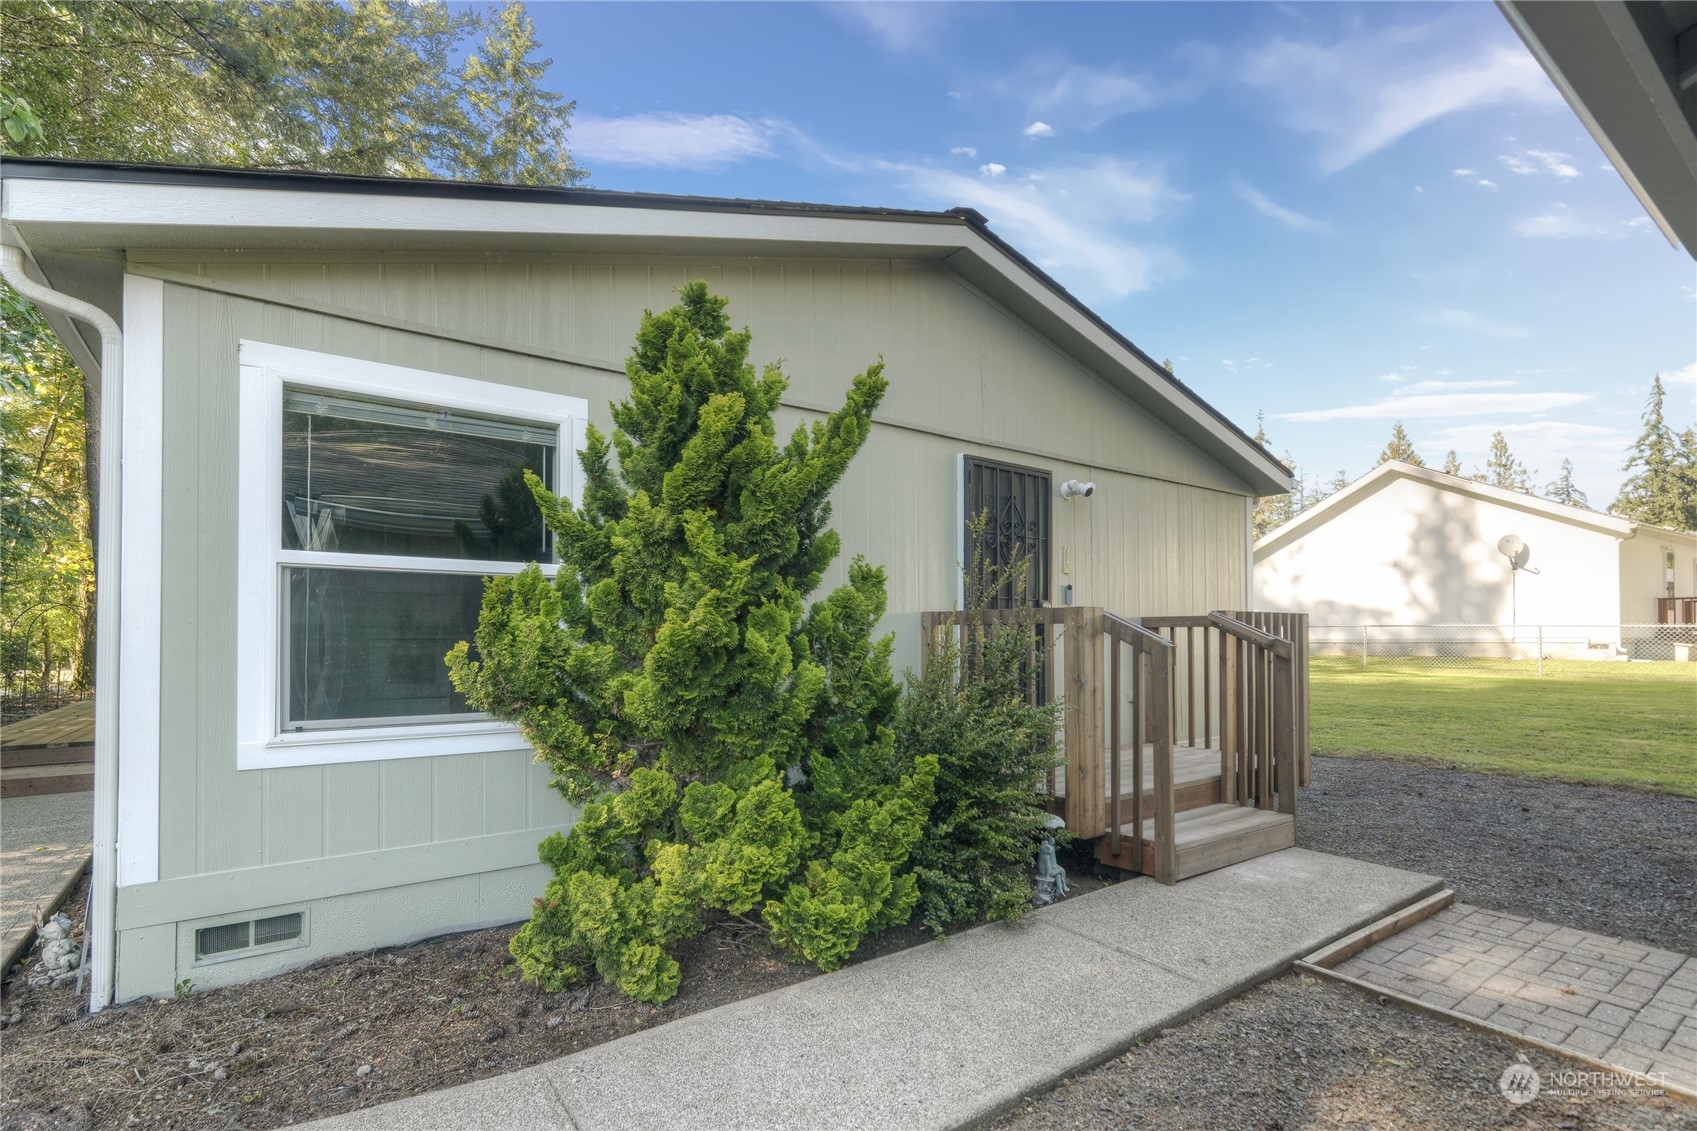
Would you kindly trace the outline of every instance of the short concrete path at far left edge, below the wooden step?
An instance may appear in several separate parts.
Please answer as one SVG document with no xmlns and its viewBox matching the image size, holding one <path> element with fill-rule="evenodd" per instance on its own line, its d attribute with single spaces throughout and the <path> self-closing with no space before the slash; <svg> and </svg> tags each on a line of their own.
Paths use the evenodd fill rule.
<svg viewBox="0 0 1697 1131">
<path fill-rule="evenodd" d="M 51 907 L 88 863 L 93 793 L 0 800 L 0 971 L 17 961 L 36 905 Z"/>
</svg>

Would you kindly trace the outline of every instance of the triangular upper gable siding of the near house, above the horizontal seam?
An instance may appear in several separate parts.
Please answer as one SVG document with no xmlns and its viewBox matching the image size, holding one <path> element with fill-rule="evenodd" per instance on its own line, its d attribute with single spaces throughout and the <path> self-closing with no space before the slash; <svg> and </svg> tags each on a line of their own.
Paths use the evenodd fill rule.
<svg viewBox="0 0 1697 1131">
<path fill-rule="evenodd" d="M 200 270 L 251 282 L 241 260 Z M 753 329 L 752 360 L 782 360 L 798 401 L 840 402 L 847 380 L 882 355 L 893 382 L 882 418 L 1242 491 L 1188 442 L 932 262 L 273 263 L 266 285 L 623 367 L 641 311 L 670 306 L 691 279 L 706 279 L 730 299 L 731 324 Z"/>
</svg>

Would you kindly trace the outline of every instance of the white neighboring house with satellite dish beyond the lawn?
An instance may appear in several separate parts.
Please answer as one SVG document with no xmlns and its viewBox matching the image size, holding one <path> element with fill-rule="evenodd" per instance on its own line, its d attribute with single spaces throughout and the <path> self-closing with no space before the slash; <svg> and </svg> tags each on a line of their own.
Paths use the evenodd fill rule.
<svg viewBox="0 0 1697 1131">
<path fill-rule="evenodd" d="M 1254 588 L 1317 627 L 1685 620 L 1660 603 L 1697 596 L 1697 535 L 1392 460 L 1261 538 Z"/>
</svg>

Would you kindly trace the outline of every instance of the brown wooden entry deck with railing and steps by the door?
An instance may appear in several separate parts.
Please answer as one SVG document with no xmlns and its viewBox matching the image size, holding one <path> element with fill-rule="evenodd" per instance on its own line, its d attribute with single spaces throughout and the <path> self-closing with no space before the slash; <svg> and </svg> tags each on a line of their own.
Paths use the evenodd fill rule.
<svg viewBox="0 0 1697 1131">
<path fill-rule="evenodd" d="M 1028 640 L 1030 700 L 1067 706 L 1049 810 L 1095 842 L 1096 859 L 1176 883 L 1295 846 L 1305 615 L 921 613 L 921 664 L 949 657 L 972 679 L 988 633 L 1010 625 Z"/>
</svg>

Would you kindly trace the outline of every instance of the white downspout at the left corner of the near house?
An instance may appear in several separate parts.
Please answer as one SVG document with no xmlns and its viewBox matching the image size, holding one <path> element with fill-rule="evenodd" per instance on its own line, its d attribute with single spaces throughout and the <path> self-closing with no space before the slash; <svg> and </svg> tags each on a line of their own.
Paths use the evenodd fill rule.
<svg viewBox="0 0 1697 1131">
<path fill-rule="evenodd" d="M 119 557 L 124 543 L 124 333 L 112 316 L 24 273 L 24 251 L 0 245 L 0 277 L 39 307 L 100 331 L 100 530 L 95 559 L 95 844 L 88 922 L 93 958 L 88 1012 L 112 1004 L 117 975 L 117 679 Z"/>
</svg>

